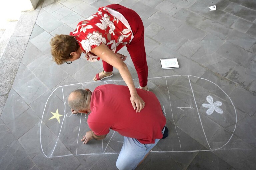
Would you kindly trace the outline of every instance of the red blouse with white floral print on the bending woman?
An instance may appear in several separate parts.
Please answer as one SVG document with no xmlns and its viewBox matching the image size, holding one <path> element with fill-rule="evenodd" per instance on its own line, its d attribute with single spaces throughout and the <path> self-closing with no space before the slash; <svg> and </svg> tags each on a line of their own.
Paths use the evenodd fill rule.
<svg viewBox="0 0 256 170">
<path fill-rule="evenodd" d="M 102 43 L 116 53 L 131 41 L 131 30 L 111 15 L 106 7 L 100 7 L 98 12 L 85 21 L 86 24 L 82 24 L 84 21 L 79 22 L 76 30 L 71 32 L 70 35 L 75 37 L 89 61 L 100 59 L 93 55 L 90 50 Z"/>
</svg>

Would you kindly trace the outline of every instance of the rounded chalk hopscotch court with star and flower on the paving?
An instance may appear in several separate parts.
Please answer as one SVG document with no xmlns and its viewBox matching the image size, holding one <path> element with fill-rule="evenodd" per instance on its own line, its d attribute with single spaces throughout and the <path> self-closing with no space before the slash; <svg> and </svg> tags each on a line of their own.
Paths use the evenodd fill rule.
<svg viewBox="0 0 256 170">
<path fill-rule="evenodd" d="M 149 83 L 158 85 L 152 92 L 158 97 L 166 118 L 173 127 L 171 129 L 168 127 L 173 135 L 166 139 L 177 141 L 174 146 L 175 150 L 167 147 L 166 150 L 152 152 L 211 151 L 220 149 L 229 143 L 236 129 L 237 114 L 233 102 L 221 87 L 212 81 L 191 75 L 153 77 L 148 80 Z M 199 86 L 197 80 L 213 84 L 214 90 Z M 138 79 L 134 79 L 134 82 L 138 84 Z M 90 130 L 87 125 L 87 116 L 85 114 L 71 115 L 67 104 L 68 94 L 78 85 L 93 91 L 97 86 L 103 84 L 124 84 L 124 82 L 123 80 L 106 80 L 70 84 L 59 86 L 51 93 L 46 101 L 40 124 L 40 144 L 46 157 L 119 154 L 123 137 L 113 130 L 102 141 L 91 140 L 90 144 L 82 144 L 80 139 L 86 131 Z M 216 96 L 213 93 L 215 91 L 221 91 L 222 97 Z M 49 120 L 53 117 L 54 112 L 57 113 L 56 110 L 58 115 L 63 116 L 57 115 L 56 119 Z M 217 130 L 221 126 L 228 126 L 227 123 L 234 125 L 231 130 L 229 129 L 230 136 L 226 136 L 222 142 L 219 142 L 219 138 L 215 137 L 218 136 L 216 135 Z M 192 130 L 196 133 L 193 133 Z M 180 137 L 181 132 L 189 134 L 191 140 L 200 143 L 208 150 L 201 150 L 197 146 L 188 146 L 188 142 L 184 143 Z M 47 138 L 43 136 L 47 136 Z"/>
</svg>

